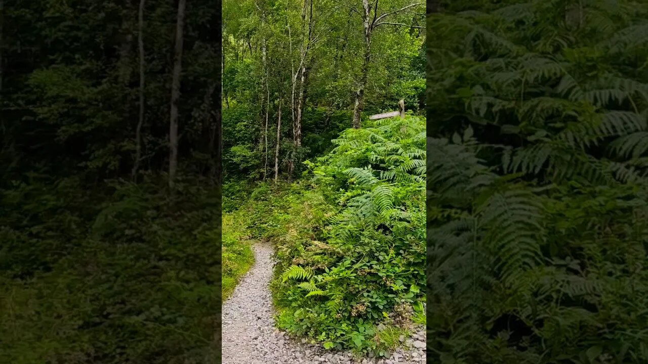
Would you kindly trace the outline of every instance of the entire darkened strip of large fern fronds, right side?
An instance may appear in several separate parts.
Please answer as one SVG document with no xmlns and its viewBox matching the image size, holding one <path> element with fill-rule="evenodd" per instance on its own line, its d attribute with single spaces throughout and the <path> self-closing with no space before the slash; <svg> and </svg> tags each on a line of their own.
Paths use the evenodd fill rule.
<svg viewBox="0 0 648 364">
<path fill-rule="evenodd" d="M 648 6 L 428 7 L 428 354 L 646 363 Z"/>
</svg>

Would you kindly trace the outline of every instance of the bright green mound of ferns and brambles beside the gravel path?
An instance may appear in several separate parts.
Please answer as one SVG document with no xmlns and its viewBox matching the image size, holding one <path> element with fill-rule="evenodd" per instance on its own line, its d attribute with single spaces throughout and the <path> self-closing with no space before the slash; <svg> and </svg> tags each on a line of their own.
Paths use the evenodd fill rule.
<svg viewBox="0 0 648 364">
<path fill-rule="evenodd" d="M 260 231 L 276 237 L 280 328 L 378 355 L 388 352 L 378 326 L 406 332 L 424 297 L 424 129 L 406 117 L 344 131 L 308 163 L 312 186 L 273 209 Z"/>
</svg>

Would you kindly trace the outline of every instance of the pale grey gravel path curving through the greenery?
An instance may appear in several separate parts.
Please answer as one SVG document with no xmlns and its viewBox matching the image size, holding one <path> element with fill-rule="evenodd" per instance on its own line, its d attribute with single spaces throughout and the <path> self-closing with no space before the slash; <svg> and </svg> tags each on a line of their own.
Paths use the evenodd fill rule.
<svg viewBox="0 0 648 364">
<path fill-rule="evenodd" d="M 270 290 L 272 245 L 258 243 L 255 264 L 238 284 L 222 309 L 223 364 L 422 364 L 425 332 L 421 328 L 404 340 L 409 350 L 399 349 L 389 359 L 353 359 L 348 352 L 331 352 L 298 343 L 274 327 Z"/>
</svg>

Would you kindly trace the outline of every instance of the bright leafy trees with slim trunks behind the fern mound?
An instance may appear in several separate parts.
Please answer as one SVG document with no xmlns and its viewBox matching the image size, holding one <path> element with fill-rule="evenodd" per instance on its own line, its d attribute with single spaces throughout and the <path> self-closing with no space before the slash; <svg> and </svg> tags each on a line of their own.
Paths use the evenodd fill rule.
<svg viewBox="0 0 648 364">
<path fill-rule="evenodd" d="M 351 127 L 353 95 L 363 73 L 368 75 L 363 117 L 393 111 L 401 98 L 408 111 L 422 113 L 425 34 L 407 26 L 421 27 L 422 14 L 417 13 L 422 3 L 407 12 L 395 11 L 408 5 L 406 1 L 376 4 L 378 13 L 388 13 L 390 21 L 404 26 L 392 23 L 376 28 L 366 69 L 360 13 L 339 11 L 340 6 L 358 4 L 314 1 L 314 23 L 308 25 L 311 12 L 302 16 L 301 10 L 310 5 L 301 0 L 224 1 L 226 179 L 272 177 L 277 144 L 279 176 L 298 178 L 305 172 L 302 161 L 329 152 L 330 140 Z M 306 71 L 303 82 L 300 66 Z M 297 142 L 300 95 L 304 102 Z M 281 130 L 277 132 L 280 106 Z"/>
</svg>

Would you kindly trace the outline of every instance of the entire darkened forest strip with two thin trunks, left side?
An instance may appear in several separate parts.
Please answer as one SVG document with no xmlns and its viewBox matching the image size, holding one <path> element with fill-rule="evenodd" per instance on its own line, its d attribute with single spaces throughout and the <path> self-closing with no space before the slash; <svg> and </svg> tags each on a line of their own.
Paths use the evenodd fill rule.
<svg viewBox="0 0 648 364">
<path fill-rule="evenodd" d="M 220 362 L 219 4 L 0 12 L 0 363 Z"/>
</svg>

